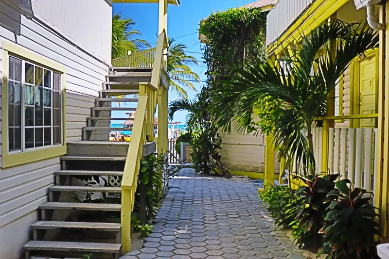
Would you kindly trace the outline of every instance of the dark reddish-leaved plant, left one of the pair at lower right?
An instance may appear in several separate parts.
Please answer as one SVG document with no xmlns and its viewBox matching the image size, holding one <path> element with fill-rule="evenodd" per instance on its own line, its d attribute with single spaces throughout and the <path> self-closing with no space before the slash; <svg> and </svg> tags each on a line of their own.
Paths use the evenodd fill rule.
<svg viewBox="0 0 389 259">
<path fill-rule="evenodd" d="M 324 225 L 326 209 L 332 201 L 327 194 L 334 190 L 338 177 L 339 175 L 296 177 L 304 184 L 296 191 L 301 198 L 301 206 L 295 221 L 291 222 L 293 237 L 299 248 L 320 246 L 322 236 L 318 232 Z"/>
</svg>

